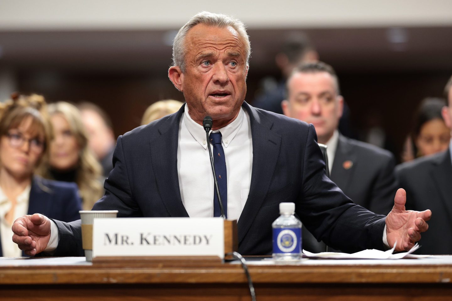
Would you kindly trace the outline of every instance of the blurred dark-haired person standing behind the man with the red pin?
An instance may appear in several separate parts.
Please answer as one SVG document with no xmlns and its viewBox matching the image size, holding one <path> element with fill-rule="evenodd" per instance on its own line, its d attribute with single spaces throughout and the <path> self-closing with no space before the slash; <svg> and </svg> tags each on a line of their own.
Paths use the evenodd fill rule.
<svg viewBox="0 0 452 301">
<path fill-rule="evenodd" d="M 274 79 L 264 80 L 262 91 L 254 99 L 253 106 L 282 114 L 281 101 L 284 99 L 286 80 L 292 73 L 292 69 L 301 62 L 318 59 L 319 55 L 306 34 L 303 32 L 294 33 L 275 56 L 276 65 L 281 70 L 282 79 L 279 82 Z"/>
</svg>

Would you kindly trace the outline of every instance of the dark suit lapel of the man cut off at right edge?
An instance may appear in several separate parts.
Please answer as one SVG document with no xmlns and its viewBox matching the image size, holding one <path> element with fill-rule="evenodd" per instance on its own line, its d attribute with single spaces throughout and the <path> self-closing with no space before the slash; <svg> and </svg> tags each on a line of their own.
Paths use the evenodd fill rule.
<svg viewBox="0 0 452 301">
<path fill-rule="evenodd" d="M 452 216 L 452 162 L 450 151 L 448 149 L 437 158 L 438 160 L 433 162 L 435 168 L 431 171 L 434 185 L 441 194 L 441 200 L 448 216 Z"/>
</svg>

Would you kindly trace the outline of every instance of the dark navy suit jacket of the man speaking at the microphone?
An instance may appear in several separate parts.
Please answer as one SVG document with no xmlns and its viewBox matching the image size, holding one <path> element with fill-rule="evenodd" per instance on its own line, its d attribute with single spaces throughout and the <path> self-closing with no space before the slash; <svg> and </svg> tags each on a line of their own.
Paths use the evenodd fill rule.
<svg viewBox="0 0 452 301">
<path fill-rule="evenodd" d="M 281 202 L 294 202 L 308 230 L 338 249 L 382 249 L 385 217 L 353 204 L 326 177 L 314 127 L 246 103 L 243 107 L 250 115 L 253 167 L 250 194 L 238 221 L 239 252 L 271 254 L 271 224 Z M 183 112 L 181 107 L 118 138 L 114 168 L 94 210 L 117 209 L 119 217 L 188 217 L 177 171 Z M 80 221 L 56 224 L 55 255 L 83 255 Z"/>
</svg>

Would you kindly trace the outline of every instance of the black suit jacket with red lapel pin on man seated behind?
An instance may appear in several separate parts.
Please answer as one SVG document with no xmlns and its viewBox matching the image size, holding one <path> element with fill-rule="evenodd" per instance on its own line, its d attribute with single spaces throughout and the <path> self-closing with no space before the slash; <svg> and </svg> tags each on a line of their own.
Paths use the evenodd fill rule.
<svg viewBox="0 0 452 301">
<path fill-rule="evenodd" d="M 330 179 L 372 212 L 386 215 L 394 206 L 395 158 L 387 150 L 339 134 Z"/>
</svg>

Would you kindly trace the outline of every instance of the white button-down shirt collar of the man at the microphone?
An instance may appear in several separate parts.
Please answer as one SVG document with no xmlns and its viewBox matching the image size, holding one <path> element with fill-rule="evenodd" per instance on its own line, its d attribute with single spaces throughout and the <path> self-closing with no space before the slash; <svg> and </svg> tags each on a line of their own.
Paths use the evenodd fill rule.
<svg viewBox="0 0 452 301">
<path fill-rule="evenodd" d="M 206 131 L 204 130 L 204 127 L 200 124 L 198 124 L 196 121 L 194 121 L 190 115 L 188 114 L 188 107 L 185 105 L 184 110 L 184 123 L 187 126 L 188 131 L 193 136 L 196 141 L 203 147 L 207 148 L 206 143 Z M 210 131 L 210 133 L 217 133 L 221 132 L 221 141 L 222 145 L 224 147 L 228 147 L 229 144 L 231 144 L 231 141 L 234 139 L 235 135 L 240 130 L 240 127 L 243 124 L 243 120 L 245 118 L 245 112 L 243 111 L 243 108 L 240 107 L 239 115 L 237 118 L 234 119 L 230 124 L 226 125 L 225 127 L 222 127 L 219 130 Z"/>
</svg>

